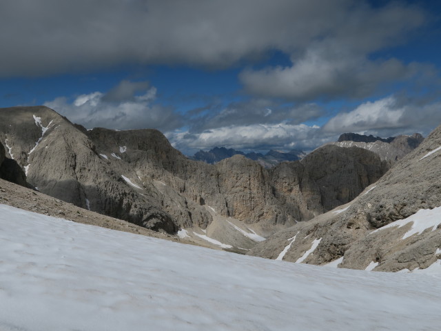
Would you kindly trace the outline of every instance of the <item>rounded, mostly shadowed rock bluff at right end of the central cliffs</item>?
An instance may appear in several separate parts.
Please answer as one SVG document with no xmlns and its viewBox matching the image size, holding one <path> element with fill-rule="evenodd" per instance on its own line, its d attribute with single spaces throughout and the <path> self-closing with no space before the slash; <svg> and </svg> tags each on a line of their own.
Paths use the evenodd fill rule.
<svg viewBox="0 0 441 331">
<path fill-rule="evenodd" d="M 389 170 L 378 155 L 362 148 L 323 146 L 271 172 L 276 198 L 299 221 L 348 203 Z"/>
</svg>

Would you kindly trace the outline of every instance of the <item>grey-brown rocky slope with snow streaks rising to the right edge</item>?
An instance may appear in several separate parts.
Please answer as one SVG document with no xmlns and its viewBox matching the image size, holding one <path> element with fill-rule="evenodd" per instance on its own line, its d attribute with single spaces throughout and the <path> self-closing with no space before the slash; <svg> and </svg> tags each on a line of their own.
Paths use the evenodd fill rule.
<svg viewBox="0 0 441 331">
<path fill-rule="evenodd" d="M 249 254 L 393 272 L 439 263 L 440 146 L 441 126 L 356 199 L 274 234 Z"/>
</svg>

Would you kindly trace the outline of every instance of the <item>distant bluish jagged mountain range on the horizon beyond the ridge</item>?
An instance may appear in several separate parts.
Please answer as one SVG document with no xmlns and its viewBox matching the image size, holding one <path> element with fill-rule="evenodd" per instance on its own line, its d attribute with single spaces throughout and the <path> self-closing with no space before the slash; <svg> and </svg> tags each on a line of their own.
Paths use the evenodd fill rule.
<svg viewBox="0 0 441 331">
<path fill-rule="evenodd" d="M 249 152 L 244 153 L 240 150 L 234 150 L 233 148 L 215 147 L 212 150 L 196 152 L 190 159 L 196 161 L 204 161 L 209 164 L 214 164 L 223 159 L 233 157 L 234 155 L 243 155 L 248 159 L 258 161 L 264 168 L 272 168 L 274 165 L 283 161 L 297 161 L 305 157 L 305 152 L 301 150 L 290 150 L 289 152 L 281 152 L 278 150 L 269 150 L 266 154 Z"/>
</svg>

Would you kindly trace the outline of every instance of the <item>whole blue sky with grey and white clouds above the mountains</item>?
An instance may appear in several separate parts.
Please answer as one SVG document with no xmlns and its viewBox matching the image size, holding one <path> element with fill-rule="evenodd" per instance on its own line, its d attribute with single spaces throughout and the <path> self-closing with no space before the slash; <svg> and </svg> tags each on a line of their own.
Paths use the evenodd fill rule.
<svg viewBox="0 0 441 331">
<path fill-rule="evenodd" d="M 429 0 L 5 0 L 0 107 L 156 128 L 189 155 L 427 136 L 440 15 Z"/>
</svg>

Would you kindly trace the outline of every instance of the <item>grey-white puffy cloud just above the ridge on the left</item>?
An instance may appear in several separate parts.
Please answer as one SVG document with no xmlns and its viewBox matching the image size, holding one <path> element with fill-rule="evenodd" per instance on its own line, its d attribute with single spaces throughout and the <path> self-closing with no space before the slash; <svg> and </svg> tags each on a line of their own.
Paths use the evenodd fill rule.
<svg viewBox="0 0 441 331">
<path fill-rule="evenodd" d="M 134 95 L 141 85 L 145 86 L 144 83 L 123 81 L 107 94 L 102 92 L 82 94 L 73 101 L 59 97 L 45 102 L 45 106 L 85 128 L 103 127 L 119 130 L 156 128 L 167 131 L 183 125 L 181 115 L 176 114 L 172 108 L 154 103 L 156 88 L 152 87 L 141 95 Z M 110 98 L 109 95 L 112 97 Z"/>
</svg>

